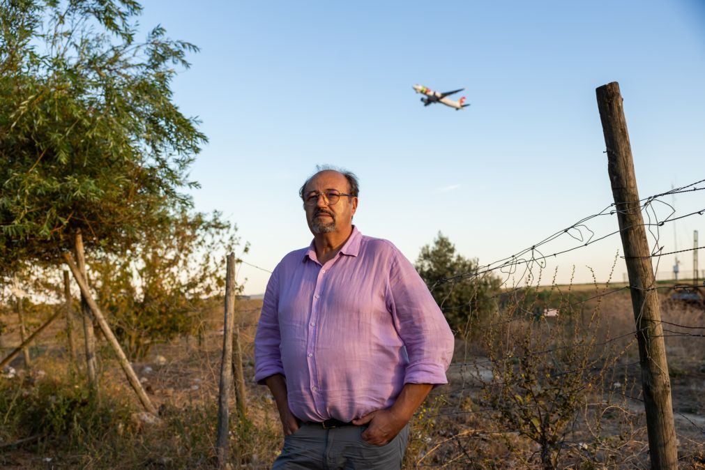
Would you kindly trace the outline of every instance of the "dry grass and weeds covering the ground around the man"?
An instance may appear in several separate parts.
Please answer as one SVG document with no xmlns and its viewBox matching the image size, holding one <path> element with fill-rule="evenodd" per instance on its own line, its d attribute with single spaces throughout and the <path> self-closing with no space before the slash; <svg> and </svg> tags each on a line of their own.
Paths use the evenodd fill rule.
<svg viewBox="0 0 705 470">
<path fill-rule="evenodd" d="M 254 360 L 252 341 L 261 301 L 243 301 L 240 311 L 240 340 L 247 383 L 247 419 L 231 426 L 231 461 L 235 468 L 269 468 L 282 442 L 276 407 L 266 388 L 252 383 Z M 590 312 L 593 304 L 584 310 Z M 616 338 L 615 350 L 626 347 L 634 330 L 628 292 L 604 297 L 600 305 L 603 321 L 600 335 Z M 46 309 L 44 309 L 46 310 Z M 50 312 L 28 312 L 33 326 Z M 678 306 L 665 307 L 663 319 L 678 325 L 704 325 L 703 312 Z M 14 316 L 4 315 L 7 324 L 2 340 L 16 345 L 18 333 Z M 516 323 L 510 335 L 518 335 L 525 325 Z M 673 327 L 680 332 L 692 331 Z M 705 416 L 701 387 L 705 382 L 705 340 L 666 338 L 673 380 L 676 412 L 690 419 Z M 38 393 L 39 384 L 51 381 L 56 390 L 85 388 L 79 374 L 71 376 L 63 345 L 63 321 L 51 327 L 32 348 L 36 356 L 32 371 L 23 381 L 0 378 L 4 392 L 18 396 Z M 214 468 L 216 436 L 216 396 L 222 344 L 222 309 L 209 311 L 200 338 L 179 338 L 166 345 L 155 345 L 145 361 L 135 363 L 135 371 L 159 407 L 161 421 L 149 424 L 138 416 L 139 405 L 125 383 L 121 370 L 105 348 L 101 351 L 101 397 L 96 413 L 88 414 L 83 427 L 67 435 L 41 435 L 18 446 L 0 447 L 2 468 L 88 468 L 133 469 Z M 496 413 L 483 409 L 479 400 L 477 374 L 482 368 L 462 367 L 460 363 L 482 361 L 482 347 L 458 340 L 451 383 L 436 388 L 412 423 L 405 468 L 439 466 L 447 469 L 538 468 L 537 447 L 529 439 L 508 429 Z M 620 364 L 635 361 L 634 348 Z M 163 359 L 162 359 L 163 358 Z M 22 359 L 13 364 L 22 371 Z M 75 381 L 74 381 L 75 380 Z M 639 398 L 638 368 L 615 368 L 603 384 L 606 392 L 588 395 L 575 415 L 572 429 L 561 453 L 563 468 L 646 468 L 646 430 L 642 404 L 625 395 Z M 618 385 L 617 385 L 618 384 Z M 64 393 L 59 390 L 59 393 Z M 56 394 L 56 392 L 54 392 Z M 50 404 L 51 398 L 45 397 Z M 49 406 L 49 405 L 47 405 Z M 232 408 L 234 409 L 234 407 Z M 21 432 L 26 426 L 9 426 L 7 407 L 0 407 L 0 445 L 32 437 Z M 51 413 L 51 409 L 47 413 Z M 56 412 L 54 412 L 56 413 Z M 99 416 L 99 413 L 103 415 Z M 10 413 L 11 414 L 11 413 Z M 4 417 L 3 417 L 4 416 Z M 109 426 L 96 423 L 109 418 Z M 678 417 L 678 416 L 677 416 Z M 101 421 L 102 420 L 102 421 Z M 699 423 L 696 421 L 696 424 Z M 79 423 L 80 424 L 80 423 Z M 676 421 L 682 468 L 704 468 L 705 434 L 687 419 Z M 90 425 L 90 426 L 89 426 Z M 92 426 L 92 427 L 91 427 Z M 705 423 L 701 425 L 705 428 Z M 47 459 L 50 459 L 47 461 Z M 700 466 L 699 466 L 700 465 Z"/>
</svg>

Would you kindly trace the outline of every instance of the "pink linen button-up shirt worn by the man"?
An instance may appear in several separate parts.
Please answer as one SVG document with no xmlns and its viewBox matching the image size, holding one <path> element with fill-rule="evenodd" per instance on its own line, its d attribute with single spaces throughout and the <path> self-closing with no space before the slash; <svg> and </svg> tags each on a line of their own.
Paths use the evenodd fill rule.
<svg viewBox="0 0 705 470">
<path fill-rule="evenodd" d="M 326 264 L 313 243 L 276 266 L 255 335 L 255 380 L 286 377 L 303 421 L 391 407 L 405 383 L 447 383 L 453 333 L 412 264 L 353 233 Z"/>
</svg>

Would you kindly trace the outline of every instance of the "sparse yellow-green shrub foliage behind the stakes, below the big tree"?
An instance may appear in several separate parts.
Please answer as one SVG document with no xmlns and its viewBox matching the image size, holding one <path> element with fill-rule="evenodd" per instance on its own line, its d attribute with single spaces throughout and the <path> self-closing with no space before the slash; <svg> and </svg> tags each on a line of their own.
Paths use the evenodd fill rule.
<svg viewBox="0 0 705 470">
<path fill-rule="evenodd" d="M 224 259 L 238 245 L 236 230 L 217 213 L 184 211 L 125 254 L 91 264 L 98 301 L 128 357 L 141 359 L 154 342 L 195 333 L 210 297 L 225 287 Z"/>
</svg>

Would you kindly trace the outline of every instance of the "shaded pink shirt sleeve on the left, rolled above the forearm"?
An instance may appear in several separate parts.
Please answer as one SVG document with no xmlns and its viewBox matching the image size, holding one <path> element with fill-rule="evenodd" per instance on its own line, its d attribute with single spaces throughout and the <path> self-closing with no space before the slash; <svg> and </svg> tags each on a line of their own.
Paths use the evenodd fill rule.
<svg viewBox="0 0 705 470">
<path fill-rule="evenodd" d="M 265 378 L 273 376 L 275 373 L 284 374 L 281 351 L 279 350 L 281 333 L 279 333 L 278 319 L 278 273 L 279 266 L 274 269 L 269 283 L 267 283 L 262 303 L 262 314 L 259 316 L 257 333 L 255 334 L 255 381 L 259 384 L 263 384 Z"/>
</svg>

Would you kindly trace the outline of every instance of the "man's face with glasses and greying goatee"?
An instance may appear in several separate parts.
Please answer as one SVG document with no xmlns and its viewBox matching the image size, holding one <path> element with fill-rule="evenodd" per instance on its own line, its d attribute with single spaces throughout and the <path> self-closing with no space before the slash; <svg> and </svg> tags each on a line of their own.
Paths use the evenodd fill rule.
<svg viewBox="0 0 705 470">
<path fill-rule="evenodd" d="M 336 190 L 349 193 L 348 180 L 341 173 L 324 170 L 309 181 L 304 190 L 304 199 L 312 192 L 324 193 Z M 357 209 L 357 197 L 341 196 L 336 204 L 330 205 L 326 198 L 319 197 L 313 206 L 304 205 L 306 221 L 314 235 L 319 233 L 348 233 L 353 225 L 353 215 Z"/>
</svg>

